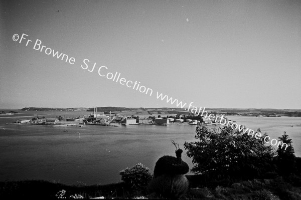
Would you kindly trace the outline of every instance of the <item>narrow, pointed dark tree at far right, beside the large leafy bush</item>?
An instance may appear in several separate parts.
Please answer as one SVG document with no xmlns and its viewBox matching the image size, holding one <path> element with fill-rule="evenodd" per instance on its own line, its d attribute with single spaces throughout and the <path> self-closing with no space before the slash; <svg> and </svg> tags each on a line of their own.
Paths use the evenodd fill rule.
<svg viewBox="0 0 301 200">
<path fill-rule="evenodd" d="M 295 171 L 295 155 L 294 149 L 292 147 L 292 141 L 289 139 L 288 135 L 284 131 L 284 134 L 281 137 L 278 137 L 279 141 L 286 143 L 287 148 L 281 148 L 278 146 L 277 149 L 277 165 L 279 173 L 282 175 L 287 175 Z"/>
</svg>

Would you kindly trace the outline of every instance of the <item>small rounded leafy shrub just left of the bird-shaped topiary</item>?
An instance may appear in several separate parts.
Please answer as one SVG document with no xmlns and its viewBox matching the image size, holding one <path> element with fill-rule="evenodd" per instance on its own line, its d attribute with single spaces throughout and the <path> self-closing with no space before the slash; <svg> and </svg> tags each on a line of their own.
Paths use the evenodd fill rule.
<svg viewBox="0 0 301 200">
<path fill-rule="evenodd" d="M 152 179 L 150 169 L 141 163 L 137 163 L 132 168 L 126 168 L 120 171 L 121 180 L 130 190 L 143 190 Z"/>
</svg>

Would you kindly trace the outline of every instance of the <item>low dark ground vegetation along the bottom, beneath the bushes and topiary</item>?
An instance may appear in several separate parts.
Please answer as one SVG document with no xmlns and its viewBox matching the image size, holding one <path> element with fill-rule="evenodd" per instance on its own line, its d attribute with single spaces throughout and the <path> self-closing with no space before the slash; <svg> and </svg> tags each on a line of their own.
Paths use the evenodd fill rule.
<svg viewBox="0 0 301 200">
<path fill-rule="evenodd" d="M 186 177 L 190 188 L 182 199 L 301 199 L 300 182 L 295 182 L 296 177 L 293 176 L 239 182 L 208 180 L 201 176 Z M 198 184 L 199 182 L 202 183 Z M 0 187 L 1 199 L 57 198 L 56 194 L 62 189 L 66 190 L 66 198 L 75 194 L 84 198 L 161 198 L 160 195 L 147 194 L 143 190 L 128 190 L 123 182 L 107 185 L 65 185 L 43 180 L 25 180 L 1 182 Z"/>
</svg>

